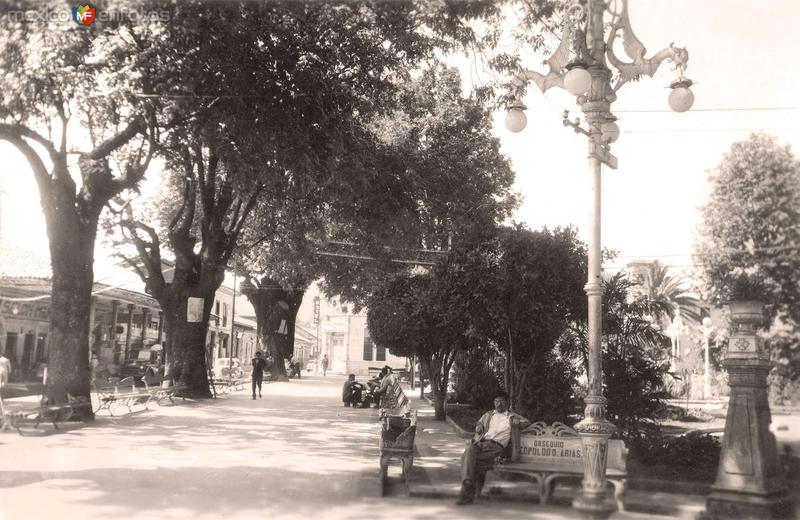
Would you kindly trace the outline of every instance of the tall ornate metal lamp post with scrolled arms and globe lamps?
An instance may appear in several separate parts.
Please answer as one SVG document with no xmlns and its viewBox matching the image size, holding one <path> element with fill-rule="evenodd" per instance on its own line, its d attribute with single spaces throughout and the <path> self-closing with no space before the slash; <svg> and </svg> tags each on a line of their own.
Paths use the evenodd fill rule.
<svg viewBox="0 0 800 520">
<path fill-rule="evenodd" d="M 613 11 L 612 6 L 608 5 L 611 15 L 608 39 L 605 38 L 603 25 L 607 8 L 604 0 L 588 0 L 588 5 L 572 5 L 566 11 L 559 46 L 547 60 L 550 71 L 542 75 L 524 70 L 514 77 L 510 92 L 512 102 L 506 117 L 509 130 L 520 132 L 524 129 L 527 118 L 521 96 L 526 84 L 533 81 L 542 92 L 558 86 L 577 96 L 588 126 L 584 129 L 579 120 L 571 122 L 567 119 L 568 114 L 565 114 L 564 124 L 588 137 L 589 171 L 592 177 L 589 276 L 585 287 L 589 303 L 589 394 L 585 399 L 585 418 L 575 426 L 583 443 L 584 477 L 581 495 L 573 502 L 573 507 L 591 518 L 607 518 L 616 510 L 614 502 L 606 497 L 608 438 L 615 427 L 605 417 L 601 348 L 603 289 L 600 278 L 601 163 L 611 168 L 617 167 L 617 159 L 609 151 L 609 144 L 619 136 L 616 117 L 610 110 L 611 103 L 616 100 L 616 92 L 622 85 L 643 74 L 653 76 L 666 59 L 670 59 L 680 71 L 680 77 L 670 85 L 670 107 L 676 112 L 684 112 L 694 101 L 694 95 L 689 90 L 692 81 L 683 77 L 689 59 L 686 50 L 670 45 L 652 58 L 645 58 L 645 47 L 630 26 L 627 0 L 622 0 L 618 5 L 621 7 L 619 11 Z M 614 42 L 618 36 L 622 37 L 625 54 L 632 61 L 623 62 L 615 54 Z M 606 58 L 618 72 L 613 85 L 612 71 Z"/>
</svg>

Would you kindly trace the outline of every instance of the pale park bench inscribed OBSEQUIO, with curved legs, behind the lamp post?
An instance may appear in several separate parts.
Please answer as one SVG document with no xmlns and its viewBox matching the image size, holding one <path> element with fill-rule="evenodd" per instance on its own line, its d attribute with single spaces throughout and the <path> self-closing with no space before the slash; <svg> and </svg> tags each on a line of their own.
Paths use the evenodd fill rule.
<svg viewBox="0 0 800 520">
<path fill-rule="evenodd" d="M 521 475 L 535 480 L 539 486 L 539 500 L 547 504 L 553 496 L 556 480 L 583 477 L 582 452 L 581 438 L 572 428 L 559 422 L 552 425 L 535 422 L 521 432 L 514 432 L 511 461 L 501 460 L 489 473 Z M 628 474 L 627 453 L 623 441 L 608 441 L 606 478 L 614 486 L 614 500 L 620 511 L 625 510 L 622 496 Z"/>
</svg>

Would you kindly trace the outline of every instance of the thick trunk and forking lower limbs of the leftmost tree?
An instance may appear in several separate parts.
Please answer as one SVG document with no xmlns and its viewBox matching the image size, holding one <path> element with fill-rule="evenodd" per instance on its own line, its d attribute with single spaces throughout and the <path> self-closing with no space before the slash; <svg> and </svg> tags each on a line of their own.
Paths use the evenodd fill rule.
<svg viewBox="0 0 800 520">
<path fill-rule="evenodd" d="M 144 130 L 143 119 L 135 119 L 92 152 L 80 155 L 82 182 L 78 187 L 67 165 L 69 118 L 63 106 L 57 110 L 62 124 L 58 144 L 24 125 L 5 123 L 0 123 L 0 139 L 10 142 L 25 156 L 39 186 L 53 271 L 46 392 L 49 402 L 61 404 L 68 401 L 68 394 L 87 400 L 91 397 L 89 315 L 100 213 L 112 197 L 141 179 L 152 157 L 152 147 L 144 163 L 126 163 L 123 176 L 112 176 L 108 155 Z M 49 167 L 30 144 L 32 141 L 46 151 Z M 84 420 L 94 418 L 91 407 L 80 409 L 78 415 Z"/>
</svg>

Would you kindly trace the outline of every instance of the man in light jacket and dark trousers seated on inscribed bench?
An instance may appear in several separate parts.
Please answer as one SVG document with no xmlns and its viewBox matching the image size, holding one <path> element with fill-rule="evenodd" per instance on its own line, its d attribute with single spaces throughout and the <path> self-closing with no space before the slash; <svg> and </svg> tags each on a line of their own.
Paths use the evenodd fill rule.
<svg viewBox="0 0 800 520">
<path fill-rule="evenodd" d="M 486 472 L 492 469 L 497 457 L 505 454 L 511 443 L 512 425 L 525 427 L 529 423 L 530 421 L 508 409 L 508 398 L 505 394 L 495 397 L 494 410 L 486 412 L 478 420 L 475 435 L 461 457 L 461 496 L 457 505 L 475 501 L 475 492 L 480 491 Z"/>
</svg>

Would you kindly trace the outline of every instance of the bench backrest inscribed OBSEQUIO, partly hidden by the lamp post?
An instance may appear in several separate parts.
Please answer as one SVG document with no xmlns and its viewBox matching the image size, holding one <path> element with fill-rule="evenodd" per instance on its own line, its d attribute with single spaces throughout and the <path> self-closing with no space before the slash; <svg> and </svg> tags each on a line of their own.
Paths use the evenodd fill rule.
<svg viewBox="0 0 800 520">
<path fill-rule="evenodd" d="M 517 435 L 512 435 L 516 440 Z M 519 432 L 519 457 L 515 462 L 567 471 L 583 471 L 583 446 L 578 432 L 565 424 L 535 422 Z M 516 447 L 513 448 L 516 452 Z M 619 439 L 608 441 L 606 470 L 625 472 L 628 451 Z"/>
</svg>

